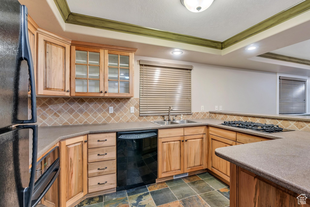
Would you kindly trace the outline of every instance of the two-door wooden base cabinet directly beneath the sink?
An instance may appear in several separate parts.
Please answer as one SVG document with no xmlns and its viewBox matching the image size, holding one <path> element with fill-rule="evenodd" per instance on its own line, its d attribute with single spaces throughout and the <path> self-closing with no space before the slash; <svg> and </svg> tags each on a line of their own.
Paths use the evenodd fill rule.
<svg viewBox="0 0 310 207">
<path fill-rule="evenodd" d="M 206 169 L 205 126 L 160 129 L 158 137 L 158 178 Z"/>
</svg>

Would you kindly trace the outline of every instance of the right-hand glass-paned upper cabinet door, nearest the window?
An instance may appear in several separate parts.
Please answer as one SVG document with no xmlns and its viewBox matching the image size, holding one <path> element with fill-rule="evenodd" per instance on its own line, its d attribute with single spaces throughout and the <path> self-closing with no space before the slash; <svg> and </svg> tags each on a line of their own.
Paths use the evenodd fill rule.
<svg viewBox="0 0 310 207">
<path fill-rule="evenodd" d="M 133 53 L 104 51 L 104 96 L 133 97 Z"/>
</svg>

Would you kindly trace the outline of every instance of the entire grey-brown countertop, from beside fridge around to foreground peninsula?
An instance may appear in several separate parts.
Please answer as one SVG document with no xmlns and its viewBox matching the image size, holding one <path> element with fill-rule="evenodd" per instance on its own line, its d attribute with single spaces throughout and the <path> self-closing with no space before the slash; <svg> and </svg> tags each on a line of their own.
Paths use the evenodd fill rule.
<svg viewBox="0 0 310 207">
<path fill-rule="evenodd" d="M 310 159 L 307 157 L 310 151 L 309 132 L 288 131 L 268 134 L 221 125 L 224 120 L 219 119 L 190 120 L 200 123 L 159 126 L 145 121 L 38 127 L 38 157 L 60 140 L 85 134 L 208 125 L 273 139 L 218 148 L 215 153 L 219 157 L 283 187 L 310 196 L 310 177 L 308 176 L 310 174 Z M 32 143 L 29 146 L 31 147 L 31 145 Z M 31 163 L 31 159 L 29 159 L 29 162 Z"/>
</svg>

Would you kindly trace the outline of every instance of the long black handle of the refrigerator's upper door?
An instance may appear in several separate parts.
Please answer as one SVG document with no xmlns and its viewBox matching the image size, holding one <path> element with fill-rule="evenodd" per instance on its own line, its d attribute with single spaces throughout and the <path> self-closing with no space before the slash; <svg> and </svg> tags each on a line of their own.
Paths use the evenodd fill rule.
<svg viewBox="0 0 310 207">
<path fill-rule="evenodd" d="M 34 79 L 34 68 L 33 60 L 31 56 L 31 50 L 29 45 L 28 37 L 28 9 L 25 5 L 22 6 L 23 9 L 23 29 L 22 29 L 22 56 L 21 61 L 25 60 L 28 64 L 29 77 L 30 77 L 30 99 L 31 99 L 31 119 L 23 120 L 23 124 L 30 124 L 37 122 L 37 100 L 36 100 L 36 85 Z"/>
</svg>

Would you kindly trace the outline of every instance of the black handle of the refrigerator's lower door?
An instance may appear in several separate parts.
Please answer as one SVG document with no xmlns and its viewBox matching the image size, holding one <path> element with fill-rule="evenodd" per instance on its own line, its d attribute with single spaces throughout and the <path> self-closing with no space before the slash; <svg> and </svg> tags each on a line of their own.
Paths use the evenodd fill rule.
<svg viewBox="0 0 310 207">
<path fill-rule="evenodd" d="M 30 207 L 35 182 L 38 155 L 38 125 L 20 125 L 21 128 L 32 129 L 32 160 L 29 186 L 24 188 L 24 207 Z"/>
</svg>

